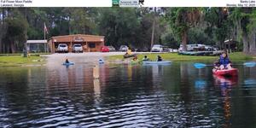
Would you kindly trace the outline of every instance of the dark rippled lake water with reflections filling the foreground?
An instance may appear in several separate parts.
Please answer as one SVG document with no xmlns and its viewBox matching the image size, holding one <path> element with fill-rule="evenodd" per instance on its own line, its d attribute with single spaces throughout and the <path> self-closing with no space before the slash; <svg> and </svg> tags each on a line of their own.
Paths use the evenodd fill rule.
<svg viewBox="0 0 256 128">
<path fill-rule="evenodd" d="M 256 127 L 256 67 L 238 68 L 1 67 L 0 127 Z"/>
</svg>

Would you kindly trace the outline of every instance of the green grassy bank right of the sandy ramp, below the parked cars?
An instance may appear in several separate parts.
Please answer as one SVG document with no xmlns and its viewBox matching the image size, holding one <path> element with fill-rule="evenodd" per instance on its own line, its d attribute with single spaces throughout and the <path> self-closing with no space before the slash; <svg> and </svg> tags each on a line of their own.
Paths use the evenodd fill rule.
<svg viewBox="0 0 256 128">
<path fill-rule="evenodd" d="M 218 56 L 196 56 L 196 55 L 178 55 L 177 53 L 150 53 L 137 55 L 138 59 L 143 59 L 144 55 L 148 55 L 151 60 L 156 60 L 156 55 L 160 55 L 166 61 L 215 61 L 218 59 Z M 245 55 L 241 52 L 231 53 L 230 60 L 232 61 L 247 61 L 252 60 L 253 56 Z M 124 60 L 123 55 L 113 55 L 108 57 L 108 61 L 120 61 Z"/>
</svg>

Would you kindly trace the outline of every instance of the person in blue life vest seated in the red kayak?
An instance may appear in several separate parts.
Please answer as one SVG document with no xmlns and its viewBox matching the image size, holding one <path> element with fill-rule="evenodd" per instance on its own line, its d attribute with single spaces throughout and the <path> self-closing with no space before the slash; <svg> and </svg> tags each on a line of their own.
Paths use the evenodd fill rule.
<svg viewBox="0 0 256 128">
<path fill-rule="evenodd" d="M 219 56 L 218 61 L 214 63 L 215 69 L 231 69 L 231 61 L 226 51 L 222 52 Z"/>
</svg>

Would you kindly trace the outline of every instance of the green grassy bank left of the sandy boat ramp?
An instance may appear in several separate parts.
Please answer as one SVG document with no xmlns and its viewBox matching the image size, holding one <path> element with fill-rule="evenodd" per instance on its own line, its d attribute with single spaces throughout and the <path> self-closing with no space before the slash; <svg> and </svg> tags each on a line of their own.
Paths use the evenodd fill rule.
<svg viewBox="0 0 256 128">
<path fill-rule="evenodd" d="M 0 55 L 1 67 L 19 67 L 42 64 L 44 64 L 44 59 L 39 55 L 31 55 L 28 58 L 21 55 Z"/>
</svg>

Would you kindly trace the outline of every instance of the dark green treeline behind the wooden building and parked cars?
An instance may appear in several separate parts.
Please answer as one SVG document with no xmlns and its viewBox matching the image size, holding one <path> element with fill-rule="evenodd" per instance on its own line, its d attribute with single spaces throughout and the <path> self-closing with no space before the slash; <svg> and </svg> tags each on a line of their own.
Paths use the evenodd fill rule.
<svg viewBox="0 0 256 128">
<path fill-rule="evenodd" d="M 106 45 L 150 48 L 164 44 L 211 44 L 224 41 L 256 53 L 255 8 L 2 8 L 0 53 L 17 53 L 27 39 L 67 34 L 105 36 Z M 183 47 L 186 49 L 186 47 Z"/>
</svg>

